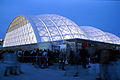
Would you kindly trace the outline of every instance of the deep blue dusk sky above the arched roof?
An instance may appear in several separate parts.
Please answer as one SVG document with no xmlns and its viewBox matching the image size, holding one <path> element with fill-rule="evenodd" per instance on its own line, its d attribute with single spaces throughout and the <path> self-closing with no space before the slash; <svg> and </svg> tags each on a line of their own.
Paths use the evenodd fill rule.
<svg viewBox="0 0 120 80">
<path fill-rule="evenodd" d="M 0 38 L 20 15 L 58 14 L 120 37 L 119 0 L 0 0 Z"/>
</svg>

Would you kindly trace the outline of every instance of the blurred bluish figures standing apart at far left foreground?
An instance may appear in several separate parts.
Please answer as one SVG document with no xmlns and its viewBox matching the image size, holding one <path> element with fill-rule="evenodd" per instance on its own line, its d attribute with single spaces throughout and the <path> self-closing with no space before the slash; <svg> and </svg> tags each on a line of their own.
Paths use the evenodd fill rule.
<svg viewBox="0 0 120 80">
<path fill-rule="evenodd" d="M 3 63 L 6 65 L 4 76 L 8 76 L 8 71 L 10 75 L 18 75 L 19 73 L 23 73 L 20 69 L 17 55 L 14 51 L 8 51 L 3 54 Z"/>
</svg>

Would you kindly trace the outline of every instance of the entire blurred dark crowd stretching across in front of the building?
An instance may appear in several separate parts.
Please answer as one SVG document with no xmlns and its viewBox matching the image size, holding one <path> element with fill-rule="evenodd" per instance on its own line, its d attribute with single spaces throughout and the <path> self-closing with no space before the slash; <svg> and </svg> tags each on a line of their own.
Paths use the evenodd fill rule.
<svg viewBox="0 0 120 80">
<path fill-rule="evenodd" d="M 88 68 L 87 64 L 89 63 L 99 63 L 100 73 L 98 80 L 110 80 L 108 79 L 108 66 L 110 63 L 116 62 L 120 58 L 120 51 L 114 48 L 107 48 L 105 46 L 100 47 L 95 51 L 93 55 L 88 53 L 89 51 L 82 47 L 82 49 L 78 49 L 76 52 L 70 50 L 67 53 L 66 50 L 56 50 L 51 51 L 34 49 L 34 50 L 6 50 L 0 58 L 3 60 L 3 63 L 7 64 L 7 67 L 4 72 L 4 76 L 8 75 L 8 71 L 10 74 L 18 75 L 18 73 L 22 74 L 22 70 L 20 68 L 20 63 L 32 63 L 41 69 L 48 68 L 54 63 L 59 63 L 58 68 L 65 70 L 65 64 L 69 65 L 82 65 L 84 69 Z M 69 55 L 67 55 L 69 54 Z M 117 79 L 116 79 L 117 80 Z"/>
</svg>

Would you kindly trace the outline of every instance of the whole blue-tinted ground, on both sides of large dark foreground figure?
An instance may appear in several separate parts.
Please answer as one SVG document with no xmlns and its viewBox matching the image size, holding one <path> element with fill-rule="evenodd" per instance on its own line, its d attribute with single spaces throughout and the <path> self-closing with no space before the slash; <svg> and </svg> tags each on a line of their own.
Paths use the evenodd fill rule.
<svg viewBox="0 0 120 80">
<path fill-rule="evenodd" d="M 18 76 L 9 75 L 3 76 L 5 64 L 0 62 L 0 80 L 95 80 L 96 79 L 96 64 L 91 64 L 91 68 L 83 69 L 78 66 L 78 77 L 74 77 L 76 66 L 65 65 L 65 71 L 58 69 L 58 64 L 54 64 L 47 69 L 40 69 L 33 66 L 31 63 L 20 63 L 24 74 Z M 116 71 L 116 72 L 115 72 Z M 117 63 L 109 65 L 110 77 L 115 80 L 116 74 L 120 80 L 120 60 Z"/>
</svg>

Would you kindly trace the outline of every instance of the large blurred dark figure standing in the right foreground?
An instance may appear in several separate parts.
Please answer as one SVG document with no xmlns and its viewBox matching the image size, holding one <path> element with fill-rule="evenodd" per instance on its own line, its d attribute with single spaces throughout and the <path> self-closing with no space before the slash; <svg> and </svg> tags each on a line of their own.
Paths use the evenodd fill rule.
<svg viewBox="0 0 120 80">
<path fill-rule="evenodd" d="M 109 64 L 113 51 L 105 45 L 100 45 L 99 48 L 95 53 L 98 55 L 97 63 L 99 63 L 99 74 L 96 80 L 110 80 Z"/>
</svg>

